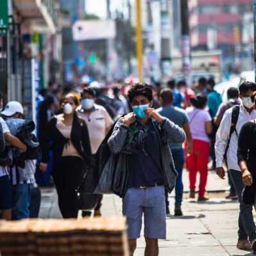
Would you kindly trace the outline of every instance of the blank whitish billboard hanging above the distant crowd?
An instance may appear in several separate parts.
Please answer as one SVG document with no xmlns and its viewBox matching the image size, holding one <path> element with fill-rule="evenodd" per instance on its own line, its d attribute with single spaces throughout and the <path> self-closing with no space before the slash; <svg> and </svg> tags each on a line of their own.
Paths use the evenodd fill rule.
<svg viewBox="0 0 256 256">
<path fill-rule="evenodd" d="M 73 40 L 99 40 L 116 37 L 115 20 L 77 20 L 72 26 Z"/>
</svg>

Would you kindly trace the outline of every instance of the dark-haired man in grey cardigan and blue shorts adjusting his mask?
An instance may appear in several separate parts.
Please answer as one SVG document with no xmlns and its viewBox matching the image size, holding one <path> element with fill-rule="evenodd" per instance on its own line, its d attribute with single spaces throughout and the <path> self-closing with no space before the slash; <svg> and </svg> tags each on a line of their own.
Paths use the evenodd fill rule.
<svg viewBox="0 0 256 256">
<path fill-rule="evenodd" d="M 136 249 L 144 214 L 145 255 L 156 256 L 157 239 L 166 239 L 164 187 L 172 191 L 177 177 L 168 140 L 182 143 L 186 136 L 179 126 L 152 108 L 152 90 L 147 84 L 134 84 L 127 96 L 133 112 L 116 122 L 108 146 L 113 154 L 127 156 L 116 184 L 122 184 L 124 191 L 130 255 Z"/>
</svg>

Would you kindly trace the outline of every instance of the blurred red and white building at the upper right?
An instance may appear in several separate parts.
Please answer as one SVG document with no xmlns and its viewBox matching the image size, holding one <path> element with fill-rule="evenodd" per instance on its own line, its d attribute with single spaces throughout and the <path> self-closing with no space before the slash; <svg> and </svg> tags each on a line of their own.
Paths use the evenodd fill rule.
<svg viewBox="0 0 256 256">
<path fill-rule="evenodd" d="M 193 51 L 220 49 L 229 72 L 253 69 L 253 1 L 190 0 Z"/>
</svg>

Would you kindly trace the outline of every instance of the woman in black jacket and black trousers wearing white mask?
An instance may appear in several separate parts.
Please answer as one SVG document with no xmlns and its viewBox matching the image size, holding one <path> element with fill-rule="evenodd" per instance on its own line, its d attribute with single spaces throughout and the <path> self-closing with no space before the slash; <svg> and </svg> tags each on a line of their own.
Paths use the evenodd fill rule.
<svg viewBox="0 0 256 256">
<path fill-rule="evenodd" d="M 40 170 L 47 170 L 49 146 L 52 140 L 53 170 L 58 204 L 63 218 L 77 218 L 79 209 L 76 189 L 83 170 L 90 163 L 91 147 L 87 126 L 76 113 L 78 100 L 72 93 L 65 96 L 63 113 L 51 118 L 42 140 Z"/>
</svg>

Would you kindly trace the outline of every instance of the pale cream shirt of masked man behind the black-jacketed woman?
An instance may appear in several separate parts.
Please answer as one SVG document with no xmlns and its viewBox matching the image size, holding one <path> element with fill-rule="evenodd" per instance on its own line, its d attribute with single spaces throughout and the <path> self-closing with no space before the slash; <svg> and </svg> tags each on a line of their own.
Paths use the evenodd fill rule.
<svg viewBox="0 0 256 256">
<path fill-rule="evenodd" d="M 86 122 L 90 143 L 92 148 L 92 154 L 95 154 L 100 146 L 100 143 L 106 137 L 106 129 L 113 124 L 112 118 L 109 116 L 106 109 L 102 106 L 94 104 L 93 111 L 90 115 L 84 113 L 83 108 L 79 108 L 77 111 L 78 116 L 83 118 Z"/>
</svg>

